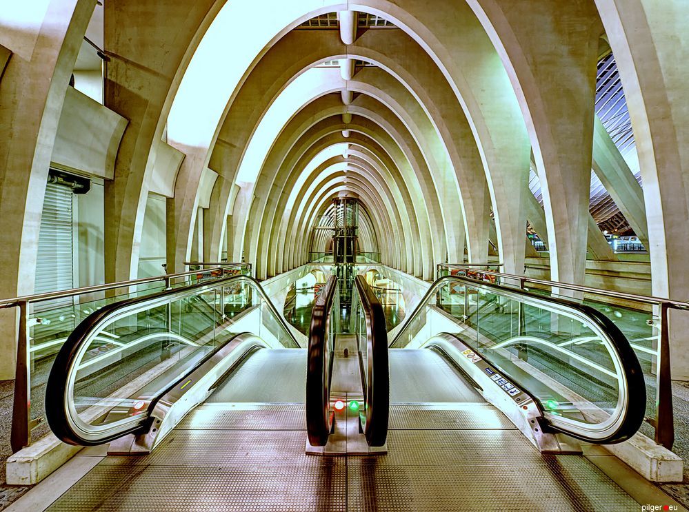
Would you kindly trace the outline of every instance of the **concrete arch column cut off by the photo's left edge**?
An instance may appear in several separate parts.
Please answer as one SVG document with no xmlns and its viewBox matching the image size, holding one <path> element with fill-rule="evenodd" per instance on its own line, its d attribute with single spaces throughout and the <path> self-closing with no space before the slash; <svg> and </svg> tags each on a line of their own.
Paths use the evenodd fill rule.
<svg viewBox="0 0 689 512">
<path fill-rule="evenodd" d="M 0 16 L 12 52 L 0 82 L 0 297 L 34 291 L 50 156 L 70 74 L 94 0 L 17 3 Z M 8 128 L 12 127 L 11 130 Z M 17 311 L 0 311 L 0 380 L 14 378 Z"/>
</svg>

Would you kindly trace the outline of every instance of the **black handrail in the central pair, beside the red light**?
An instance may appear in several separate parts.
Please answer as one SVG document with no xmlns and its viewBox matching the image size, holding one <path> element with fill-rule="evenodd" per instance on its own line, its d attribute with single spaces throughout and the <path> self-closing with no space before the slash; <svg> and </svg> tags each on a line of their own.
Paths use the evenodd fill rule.
<svg viewBox="0 0 689 512">
<path fill-rule="evenodd" d="M 332 350 L 328 344 L 330 309 L 337 291 L 337 278 L 330 276 L 316 299 L 309 326 L 306 366 L 306 432 L 314 447 L 325 446 L 330 435 L 330 379 Z M 334 340 L 330 340 L 334 343 Z"/>
</svg>

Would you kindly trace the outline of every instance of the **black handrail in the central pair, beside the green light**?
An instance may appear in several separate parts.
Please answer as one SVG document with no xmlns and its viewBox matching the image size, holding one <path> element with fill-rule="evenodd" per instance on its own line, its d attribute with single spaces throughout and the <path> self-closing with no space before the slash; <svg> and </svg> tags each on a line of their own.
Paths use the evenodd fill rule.
<svg viewBox="0 0 689 512">
<path fill-rule="evenodd" d="M 390 367 L 388 365 L 388 329 L 385 312 L 375 292 L 366 279 L 358 275 L 355 279 L 359 300 L 366 318 L 366 366 L 359 351 L 366 424 L 363 433 L 371 447 L 381 447 L 388 437 L 388 418 L 390 416 Z M 363 372 L 368 380 L 363 380 Z M 368 385 L 366 385 L 368 382 Z"/>
</svg>

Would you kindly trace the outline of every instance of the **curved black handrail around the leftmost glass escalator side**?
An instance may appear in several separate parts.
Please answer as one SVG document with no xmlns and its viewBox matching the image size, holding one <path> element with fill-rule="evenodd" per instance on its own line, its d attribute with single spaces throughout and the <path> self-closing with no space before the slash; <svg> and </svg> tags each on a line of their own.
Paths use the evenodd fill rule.
<svg viewBox="0 0 689 512">
<path fill-rule="evenodd" d="M 56 433 L 56 435 L 58 437 L 64 436 L 66 442 L 72 442 L 70 439 L 81 439 L 81 436 L 79 436 L 77 429 L 75 429 L 73 425 L 73 411 L 71 411 L 71 408 L 68 407 L 68 400 L 72 399 L 72 397 L 68 395 L 73 393 L 70 382 L 74 380 L 73 372 L 76 371 L 75 364 L 77 359 L 81 358 L 81 353 L 85 348 L 85 345 L 86 348 L 88 348 L 88 344 L 92 340 L 92 337 L 97 336 L 99 329 L 104 322 L 110 320 L 114 315 L 123 314 L 123 311 L 124 314 L 131 314 L 132 311 L 143 311 L 145 309 L 150 309 L 151 307 L 166 304 L 169 302 L 168 299 L 170 298 L 185 298 L 187 296 L 198 294 L 199 292 L 217 287 L 223 287 L 230 283 L 249 283 L 253 285 L 254 288 L 259 292 L 261 298 L 266 301 L 268 309 L 270 309 L 275 318 L 279 320 L 286 333 L 288 333 L 288 336 L 290 336 L 290 341 L 292 342 L 293 346 L 299 347 L 299 344 L 297 343 L 296 338 L 294 338 L 292 331 L 290 331 L 290 329 L 287 327 L 285 320 L 283 320 L 283 318 L 278 314 L 277 309 L 272 304 L 270 298 L 268 298 L 266 291 L 264 291 L 260 283 L 251 276 L 230 276 L 228 278 L 218 279 L 212 282 L 197 283 L 195 285 L 186 287 L 163 290 L 155 294 L 128 298 L 104 305 L 100 309 L 93 311 L 90 315 L 84 318 L 79 325 L 77 325 L 57 353 L 57 356 L 55 357 L 53 365 L 50 369 L 50 375 L 48 376 L 48 383 L 46 387 L 46 418 L 48 419 L 51 429 Z M 228 340 L 228 342 L 230 341 L 231 340 Z M 226 344 L 223 344 L 223 346 L 224 345 Z M 217 347 L 217 349 L 219 348 L 221 347 Z M 214 352 L 215 351 L 213 351 L 211 354 Z M 205 358 L 203 358 L 203 360 L 205 360 Z M 199 362 L 199 364 L 202 362 L 203 361 Z M 190 371 L 194 371 L 194 368 L 190 369 Z M 185 374 L 186 373 L 188 372 L 185 372 Z M 157 396 L 157 398 L 159 398 L 159 396 Z M 152 407 L 157 401 L 157 398 L 152 400 L 148 415 L 146 415 L 146 417 L 143 417 L 142 415 L 142 418 L 132 418 L 131 427 L 126 428 L 126 431 L 119 433 L 116 437 L 121 437 L 126 435 L 126 433 L 138 431 L 141 429 L 141 427 L 145 426 L 146 422 L 148 421 L 148 416 L 150 416 L 150 412 L 152 411 Z M 83 443 L 72 442 L 72 444 Z"/>
</svg>

